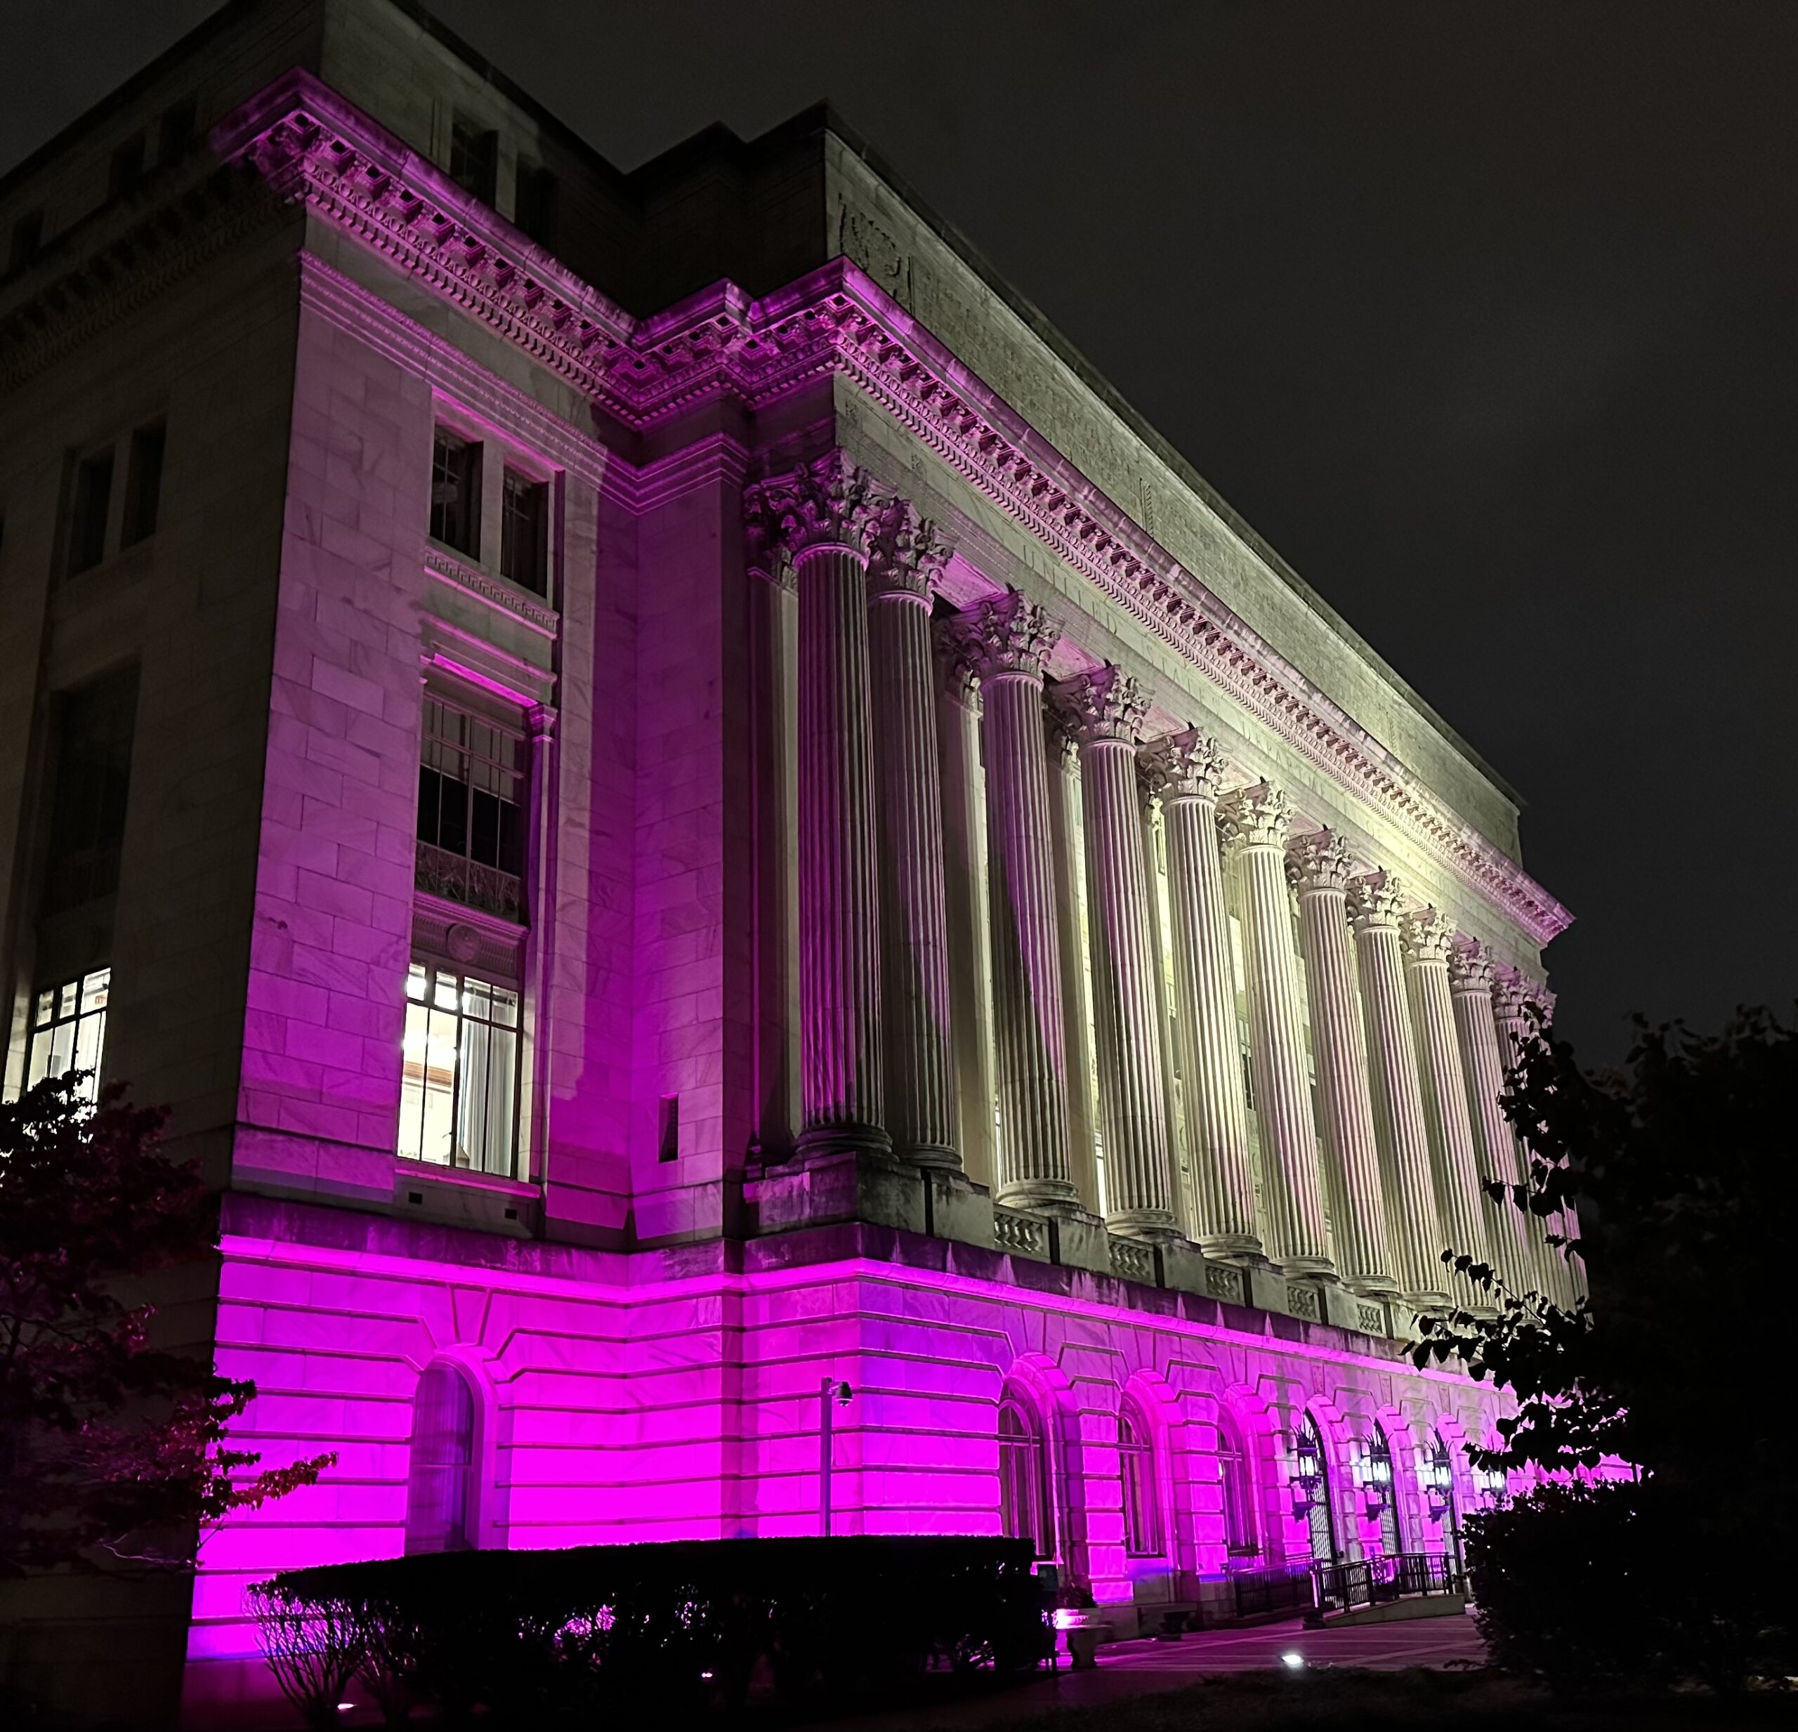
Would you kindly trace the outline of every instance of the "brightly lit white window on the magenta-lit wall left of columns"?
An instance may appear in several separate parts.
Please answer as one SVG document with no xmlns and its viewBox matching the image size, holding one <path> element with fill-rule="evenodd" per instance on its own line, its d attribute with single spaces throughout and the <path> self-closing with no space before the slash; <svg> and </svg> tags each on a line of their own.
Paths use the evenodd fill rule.
<svg viewBox="0 0 1798 1732">
<path fill-rule="evenodd" d="M 511 1178 L 518 1149 L 518 993 L 428 962 L 406 973 L 399 1153 Z"/>
</svg>

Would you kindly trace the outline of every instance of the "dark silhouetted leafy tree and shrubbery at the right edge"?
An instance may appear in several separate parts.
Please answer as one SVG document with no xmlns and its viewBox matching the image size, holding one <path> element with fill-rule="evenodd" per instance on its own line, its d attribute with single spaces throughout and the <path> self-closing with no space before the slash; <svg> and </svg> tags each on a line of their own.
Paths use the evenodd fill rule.
<svg viewBox="0 0 1798 1732">
<path fill-rule="evenodd" d="M 1638 1020 L 1625 1067 L 1598 1074 L 1543 1036 L 1503 1103 L 1530 1149 L 1510 1200 L 1579 1221 L 1561 1250 L 1582 1257 L 1589 1297 L 1566 1311 L 1447 1254 L 1498 1315 L 1429 1320 L 1413 1349 L 1516 1396 L 1500 1446 L 1469 1450 L 1476 1464 L 1561 1480 L 1469 1523 L 1494 1646 L 1544 1673 L 1609 1664 L 1719 1687 L 1789 1667 L 1798 1486 L 1778 1415 L 1798 1029 L 1760 1009 L 1715 1036 Z M 1584 1484 L 1606 1459 L 1633 1477 Z M 1611 1615 L 1570 1640 L 1546 1608 L 1575 1574 L 1582 1603 L 1602 1592 Z"/>
</svg>

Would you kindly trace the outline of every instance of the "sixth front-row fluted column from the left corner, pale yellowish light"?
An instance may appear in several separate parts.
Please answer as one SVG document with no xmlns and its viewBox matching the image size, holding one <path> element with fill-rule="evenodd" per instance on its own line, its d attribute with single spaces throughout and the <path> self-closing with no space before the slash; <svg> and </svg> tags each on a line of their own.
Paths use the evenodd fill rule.
<svg viewBox="0 0 1798 1732">
<path fill-rule="evenodd" d="M 1286 797 L 1259 782 L 1224 802 L 1242 890 L 1242 964 L 1248 975 L 1250 1068 L 1260 1124 L 1268 1255 L 1289 1272 L 1334 1268 L 1318 1182 L 1298 962 L 1286 887 Z"/>
</svg>

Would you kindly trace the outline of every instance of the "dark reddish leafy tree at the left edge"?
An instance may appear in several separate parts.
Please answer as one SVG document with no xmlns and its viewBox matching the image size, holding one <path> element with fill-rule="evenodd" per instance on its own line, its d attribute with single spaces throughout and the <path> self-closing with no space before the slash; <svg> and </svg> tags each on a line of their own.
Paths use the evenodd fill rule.
<svg viewBox="0 0 1798 1732">
<path fill-rule="evenodd" d="M 307 1486 L 227 1442 L 255 1385 L 151 1344 L 124 1290 L 209 1255 L 216 1207 L 156 1147 L 164 1113 L 74 1074 L 0 1106 L 0 1572 L 180 1565 L 194 1531 Z M 173 1545 L 171 1545 L 173 1543 Z"/>
</svg>

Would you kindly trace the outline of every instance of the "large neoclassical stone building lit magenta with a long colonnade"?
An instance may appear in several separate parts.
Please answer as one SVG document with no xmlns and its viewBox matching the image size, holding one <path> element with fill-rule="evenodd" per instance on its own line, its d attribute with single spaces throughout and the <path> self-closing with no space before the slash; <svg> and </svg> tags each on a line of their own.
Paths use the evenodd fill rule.
<svg viewBox="0 0 1798 1732">
<path fill-rule="evenodd" d="M 104 1619 L 203 1718 L 282 1565 L 814 1532 L 838 1383 L 836 1531 L 1120 1628 L 1453 1547 L 1500 1397 L 1404 1344 L 1444 1246 L 1570 1281 L 1480 1191 L 1568 914 L 840 121 L 620 174 L 410 4 L 241 0 L 5 241 L 7 1086 L 171 1103 L 180 1315 L 338 1451 L 9 1603 L 16 1683 Z"/>
</svg>

